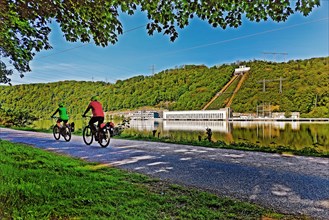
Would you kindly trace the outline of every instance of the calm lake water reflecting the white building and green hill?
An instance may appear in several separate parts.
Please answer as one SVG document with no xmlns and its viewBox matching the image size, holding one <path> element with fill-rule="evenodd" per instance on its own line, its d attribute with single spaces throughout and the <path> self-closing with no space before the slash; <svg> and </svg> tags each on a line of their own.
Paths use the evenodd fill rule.
<svg viewBox="0 0 329 220">
<path fill-rule="evenodd" d="M 76 128 L 81 129 L 88 120 L 76 120 Z M 38 121 L 37 128 L 50 128 L 55 122 Z M 168 136 L 177 140 L 197 140 L 206 137 L 206 128 L 212 130 L 213 141 L 248 142 L 262 146 L 289 146 L 294 149 L 314 147 L 329 152 L 328 122 L 276 122 L 276 121 L 161 121 L 131 120 L 130 128 L 124 132 Z"/>
</svg>

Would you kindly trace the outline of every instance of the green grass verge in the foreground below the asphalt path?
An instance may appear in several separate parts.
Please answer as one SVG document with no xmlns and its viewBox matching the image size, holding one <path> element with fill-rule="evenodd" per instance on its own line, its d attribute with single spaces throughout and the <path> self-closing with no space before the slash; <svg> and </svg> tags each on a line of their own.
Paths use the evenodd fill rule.
<svg viewBox="0 0 329 220">
<path fill-rule="evenodd" d="M 0 139 L 0 219 L 306 219 Z"/>
</svg>

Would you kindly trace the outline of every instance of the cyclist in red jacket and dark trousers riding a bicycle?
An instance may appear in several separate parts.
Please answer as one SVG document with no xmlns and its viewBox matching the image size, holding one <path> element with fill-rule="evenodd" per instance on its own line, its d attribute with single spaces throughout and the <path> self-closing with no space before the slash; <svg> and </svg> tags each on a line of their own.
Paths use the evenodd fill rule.
<svg viewBox="0 0 329 220">
<path fill-rule="evenodd" d="M 94 123 L 97 122 L 98 128 L 100 125 L 104 122 L 104 112 L 103 107 L 100 102 L 98 102 L 98 97 L 93 96 L 90 99 L 90 103 L 86 109 L 86 111 L 83 113 L 82 117 L 86 117 L 87 112 L 91 109 L 93 113 L 93 117 L 89 120 L 89 126 L 91 127 L 91 130 L 93 131 L 93 134 L 96 133 L 96 127 Z"/>
</svg>

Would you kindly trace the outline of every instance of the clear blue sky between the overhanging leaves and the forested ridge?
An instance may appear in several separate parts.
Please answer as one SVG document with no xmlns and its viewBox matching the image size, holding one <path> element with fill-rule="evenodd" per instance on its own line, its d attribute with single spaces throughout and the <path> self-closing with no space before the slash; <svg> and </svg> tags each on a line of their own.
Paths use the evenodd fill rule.
<svg viewBox="0 0 329 220">
<path fill-rule="evenodd" d="M 123 15 L 124 31 L 115 45 L 97 47 L 69 43 L 57 24 L 52 24 L 52 50 L 38 53 L 31 62 L 32 72 L 20 78 L 12 76 L 12 84 L 47 83 L 63 80 L 106 81 L 151 75 L 184 64 L 208 67 L 244 60 L 307 59 L 329 56 L 329 2 L 321 1 L 309 16 L 294 14 L 284 23 L 243 21 L 239 28 L 213 28 L 206 21 L 192 19 L 179 29 L 179 37 L 171 42 L 166 35 L 147 35 L 146 15 L 138 12 Z M 287 53 L 271 55 L 270 53 Z"/>
</svg>

